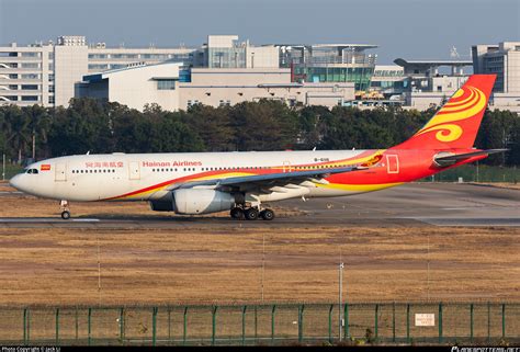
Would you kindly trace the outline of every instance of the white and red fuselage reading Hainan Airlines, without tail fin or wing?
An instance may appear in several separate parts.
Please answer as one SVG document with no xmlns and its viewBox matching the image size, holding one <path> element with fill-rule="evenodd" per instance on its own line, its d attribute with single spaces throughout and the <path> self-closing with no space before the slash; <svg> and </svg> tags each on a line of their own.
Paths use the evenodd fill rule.
<svg viewBox="0 0 520 352">
<path fill-rule="evenodd" d="M 466 151 L 466 150 L 464 150 Z M 154 201 L 172 185 L 186 181 L 268 174 L 330 167 L 366 166 L 355 172 L 337 173 L 324 181 L 297 188 L 264 188 L 262 202 L 305 196 L 340 196 L 377 191 L 431 175 L 438 150 L 314 150 L 186 154 L 79 155 L 47 159 L 30 166 L 37 173 L 23 173 L 31 182 L 11 183 L 25 193 L 56 200 Z M 473 159 L 470 161 L 474 161 Z"/>
</svg>

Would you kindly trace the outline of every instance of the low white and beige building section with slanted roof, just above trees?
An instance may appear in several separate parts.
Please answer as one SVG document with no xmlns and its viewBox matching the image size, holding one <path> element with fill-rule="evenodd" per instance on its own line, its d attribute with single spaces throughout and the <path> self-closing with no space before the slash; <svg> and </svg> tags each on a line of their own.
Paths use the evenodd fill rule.
<svg viewBox="0 0 520 352">
<path fill-rule="evenodd" d="M 297 83 L 287 68 L 191 68 L 182 64 L 140 65 L 83 77 L 77 96 L 115 101 L 143 110 L 156 103 L 165 110 L 194 104 L 234 105 L 261 99 L 289 105 L 342 105 L 354 98 L 354 84 Z"/>
</svg>

